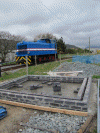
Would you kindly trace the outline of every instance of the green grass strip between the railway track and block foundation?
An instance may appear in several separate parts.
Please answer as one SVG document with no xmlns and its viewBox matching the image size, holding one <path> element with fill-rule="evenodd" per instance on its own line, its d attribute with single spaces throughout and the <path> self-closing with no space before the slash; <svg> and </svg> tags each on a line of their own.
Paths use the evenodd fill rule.
<svg viewBox="0 0 100 133">
<path fill-rule="evenodd" d="M 66 60 L 62 60 L 62 62 L 65 62 Z M 37 66 L 30 66 L 28 68 L 28 74 L 30 75 L 47 75 L 47 73 L 44 72 L 49 72 L 50 70 L 54 70 L 56 67 L 60 65 L 60 61 L 55 61 L 55 62 L 49 62 L 49 63 L 44 63 L 44 64 L 39 64 Z M 21 77 L 26 75 L 26 69 L 20 69 L 14 73 L 11 72 L 4 72 L 2 74 L 2 77 L 0 77 L 0 81 L 4 80 L 9 80 L 9 79 L 14 79 L 17 77 Z"/>
</svg>

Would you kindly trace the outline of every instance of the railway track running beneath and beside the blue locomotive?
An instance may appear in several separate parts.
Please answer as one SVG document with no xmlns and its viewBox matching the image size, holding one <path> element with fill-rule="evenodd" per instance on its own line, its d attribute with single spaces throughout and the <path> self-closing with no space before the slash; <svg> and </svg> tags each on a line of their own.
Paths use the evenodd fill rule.
<svg viewBox="0 0 100 133">
<path fill-rule="evenodd" d="M 61 60 L 66 60 L 66 59 L 71 59 L 72 57 L 67 57 L 67 58 L 61 58 Z M 56 59 L 57 61 L 59 61 L 60 59 Z M 48 61 L 49 62 L 49 61 Z M 47 62 L 47 63 L 48 63 Z M 50 61 L 50 62 L 53 62 L 53 61 Z M 44 62 L 42 63 L 39 63 L 39 64 L 43 64 Z M 46 62 L 45 62 L 46 63 Z M 30 65 L 30 66 L 33 66 L 34 64 Z M 1 66 L 1 72 L 5 72 L 5 71 L 11 71 L 11 70 L 15 70 L 15 69 L 19 69 L 19 68 L 25 68 L 26 65 L 25 64 L 21 64 L 21 65 L 8 65 L 8 66 Z"/>
</svg>

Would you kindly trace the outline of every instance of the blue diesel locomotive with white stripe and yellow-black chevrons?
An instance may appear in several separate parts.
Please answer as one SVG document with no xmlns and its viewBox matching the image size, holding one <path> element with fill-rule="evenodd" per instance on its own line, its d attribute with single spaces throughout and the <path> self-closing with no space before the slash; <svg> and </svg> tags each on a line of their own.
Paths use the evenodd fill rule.
<svg viewBox="0 0 100 133">
<path fill-rule="evenodd" d="M 57 44 L 52 39 L 40 39 L 37 42 L 20 42 L 17 43 L 16 62 L 26 64 L 26 55 L 28 64 L 34 64 L 35 61 L 45 62 L 57 58 Z"/>
</svg>

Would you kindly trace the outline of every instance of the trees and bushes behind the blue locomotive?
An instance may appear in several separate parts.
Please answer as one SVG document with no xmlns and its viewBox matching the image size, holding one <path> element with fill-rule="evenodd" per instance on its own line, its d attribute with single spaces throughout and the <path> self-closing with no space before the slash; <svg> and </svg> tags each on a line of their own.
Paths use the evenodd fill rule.
<svg viewBox="0 0 100 133">
<path fill-rule="evenodd" d="M 57 43 L 57 52 L 58 53 L 69 53 L 69 54 L 76 54 L 78 53 L 84 53 L 89 52 L 89 50 L 85 49 L 67 49 L 67 46 L 65 42 L 63 41 L 63 38 L 56 38 L 50 33 L 46 34 L 39 34 L 34 38 L 34 42 L 36 42 L 39 39 L 48 38 L 48 39 L 54 39 Z M 9 32 L 0 32 L 0 54 L 1 54 L 1 60 L 2 62 L 5 62 L 7 53 L 12 52 L 12 50 L 16 50 L 16 45 L 20 41 L 26 41 L 27 39 L 20 35 L 11 35 Z"/>
</svg>

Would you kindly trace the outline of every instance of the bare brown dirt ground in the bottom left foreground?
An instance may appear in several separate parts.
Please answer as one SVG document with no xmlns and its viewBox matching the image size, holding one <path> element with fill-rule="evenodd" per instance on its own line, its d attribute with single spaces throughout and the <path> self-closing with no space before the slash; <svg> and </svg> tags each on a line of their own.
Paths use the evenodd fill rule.
<svg viewBox="0 0 100 133">
<path fill-rule="evenodd" d="M 8 115 L 0 120 L 0 133 L 17 133 L 21 122 L 27 122 L 35 110 L 1 104 L 6 107 Z"/>
</svg>

